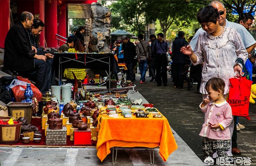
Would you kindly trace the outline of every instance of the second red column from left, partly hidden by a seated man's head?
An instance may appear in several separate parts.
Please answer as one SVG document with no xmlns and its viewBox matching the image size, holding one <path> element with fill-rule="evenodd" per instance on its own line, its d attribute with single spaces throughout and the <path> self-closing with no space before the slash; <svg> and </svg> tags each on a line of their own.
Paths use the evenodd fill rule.
<svg viewBox="0 0 256 166">
<path fill-rule="evenodd" d="M 44 0 L 39 0 L 39 1 L 35 1 L 34 2 L 34 15 L 39 14 L 39 19 L 42 20 L 44 22 Z M 40 34 L 40 43 L 39 43 L 39 47 L 44 47 L 44 31 L 45 28 L 43 29 L 43 31 Z"/>
</svg>

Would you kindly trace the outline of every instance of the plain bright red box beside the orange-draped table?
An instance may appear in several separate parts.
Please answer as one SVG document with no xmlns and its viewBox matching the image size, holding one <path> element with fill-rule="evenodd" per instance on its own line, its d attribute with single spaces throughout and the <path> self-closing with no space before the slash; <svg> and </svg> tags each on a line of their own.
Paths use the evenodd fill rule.
<svg viewBox="0 0 256 166">
<path fill-rule="evenodd" d="M 91 129 L 78 130 L 74 128 L 74 145 L 91 145 Z"/>
</svg>

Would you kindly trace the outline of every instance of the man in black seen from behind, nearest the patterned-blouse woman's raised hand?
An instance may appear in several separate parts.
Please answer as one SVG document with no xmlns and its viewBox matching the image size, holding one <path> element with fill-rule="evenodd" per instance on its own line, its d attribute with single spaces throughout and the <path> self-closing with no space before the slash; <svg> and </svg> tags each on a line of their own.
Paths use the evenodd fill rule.
<svg viewBox="0 0 256 166">
<path fill-rule="evenodd" d="M 187 46 L 188 42 L 185 40 L 185 33 L 183 31 L 178 32 L 178 38 L 172 42 L 172 67 L 173 67 L 173 79 L 174 88 L 183 88 L 185 74 L 183 73 L 184 67 L 187 64 L 187 55 L 180 52 L 180 48 Z"/>
</svg>

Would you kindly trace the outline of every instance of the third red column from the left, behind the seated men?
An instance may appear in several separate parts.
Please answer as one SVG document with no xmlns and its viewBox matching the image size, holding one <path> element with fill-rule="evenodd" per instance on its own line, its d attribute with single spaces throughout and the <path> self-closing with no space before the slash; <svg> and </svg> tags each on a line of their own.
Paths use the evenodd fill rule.
<svg viewBox="0 0 256 166">
<path fill-rule="evenodd" d="M 45 41 L 47 47 L 57 47 L 57 0 L 45 1 Z M 45 46 L 46 47 L 46 46 Z"/>
</svg>

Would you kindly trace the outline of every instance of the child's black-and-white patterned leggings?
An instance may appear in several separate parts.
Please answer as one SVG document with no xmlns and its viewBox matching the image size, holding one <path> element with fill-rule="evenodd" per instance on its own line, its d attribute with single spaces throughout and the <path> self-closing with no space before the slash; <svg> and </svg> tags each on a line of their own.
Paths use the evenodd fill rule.
<svg viewBox="0 0 256 166">
<path fill-rule="evenodd" d="M 204 158 L 217 152 L 219 157 L 224 158 L 224 161 L 228 161 L 228 155 L 226 151 L 230 148 L 231 140 L 213 140 L 207 137 L 203 138 L 202 149 L 204 152 Z"/>
</svg>

